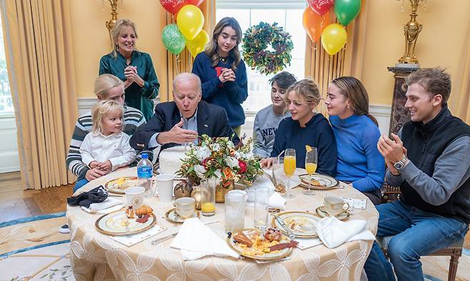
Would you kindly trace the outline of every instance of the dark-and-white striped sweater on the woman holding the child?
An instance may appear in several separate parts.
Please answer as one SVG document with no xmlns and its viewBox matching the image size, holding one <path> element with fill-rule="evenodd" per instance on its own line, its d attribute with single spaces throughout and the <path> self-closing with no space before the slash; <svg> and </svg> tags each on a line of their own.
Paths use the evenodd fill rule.
<svg viewBox="0 0 470 281">
<path fill-rule="evenodd" d="M 131 108 L 129 106 L 124 106 L 124 133 L 132 136 L 132 134 L 139 128 L 144 125 L 145 118 L 142 115 L 141 111 L 136 108 Z M 91 111 L 79 117 L 75 123 L 74 134 L 72 135 L 69 154 L 67 155 L 66 165 L 71 171 L 78 177 L 79 180 L 85 178 L 86 172 L 89 170 L 89 167 L 81 161 L 80 155 L 80 146 L 84 141 L 84 138 L 87 133 L 91 132 Z M 149 158 L 153 158 L 151 151 L 140 151 L 139 155 L 136 157 L 136 163 L 141 159 L 141 153 L 149 153 Z"/>
</svg>

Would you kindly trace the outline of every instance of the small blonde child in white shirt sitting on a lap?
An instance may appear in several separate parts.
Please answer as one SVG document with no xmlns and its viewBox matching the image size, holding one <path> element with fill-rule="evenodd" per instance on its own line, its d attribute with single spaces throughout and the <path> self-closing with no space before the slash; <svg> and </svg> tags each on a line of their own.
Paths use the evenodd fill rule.
<svg viewBox="0 0 470 281">
<path fill-rule="evenodd" d="M 124 108 L 116 101 L 100 101 L 91 109 L 93 126 L 80 147 L 81 160 L 89 168 L 111 172 L 129 165 L 136 157 L 129 136 L 122 132 L 123 115 Z"/>
</svg>

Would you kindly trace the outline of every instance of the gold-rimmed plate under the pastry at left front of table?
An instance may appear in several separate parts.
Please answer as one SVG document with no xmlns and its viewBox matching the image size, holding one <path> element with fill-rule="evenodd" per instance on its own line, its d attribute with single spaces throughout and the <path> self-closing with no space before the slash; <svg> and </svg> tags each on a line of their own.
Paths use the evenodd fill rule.
<svg viewBox="0 0 470 281">
<path fill-rule="evenodd" d="M 129 227 L 126 228 L 126 220 L 129 222 Z M 119 210 L 113 213 L 102 215 L 96 220 L 96 229 L 106 235 L 129 235 L 134 233 L 141 233 L 148 230 L 156 223 L 154 213 L 150 214 L 149 220 L 145 223 L 137 223 L 135 218 L 127 219 L 126 211 Z"/>
</svg>

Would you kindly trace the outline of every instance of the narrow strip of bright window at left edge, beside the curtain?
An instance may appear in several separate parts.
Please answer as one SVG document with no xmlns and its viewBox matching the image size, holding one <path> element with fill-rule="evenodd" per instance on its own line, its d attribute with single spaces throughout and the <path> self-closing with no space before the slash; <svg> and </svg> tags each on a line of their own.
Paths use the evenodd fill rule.
<svg viewBox="0 0 470 281">
<path fill-rule="evenodd" d="M 14 112 L 11 100 L 10 83 L 6 68 L 4 34 L 0 21 L 0 115 L 11 115 Z"/>
</svg>

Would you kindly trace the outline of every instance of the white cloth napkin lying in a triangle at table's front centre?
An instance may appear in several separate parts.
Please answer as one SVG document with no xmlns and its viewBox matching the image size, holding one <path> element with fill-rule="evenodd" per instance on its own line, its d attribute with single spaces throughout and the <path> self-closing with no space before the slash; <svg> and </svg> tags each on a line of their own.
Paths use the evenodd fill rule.
<svg viewBox="0 0 470 281">
<path fill-rule="evenodd" d="M 239 257 L 199 218 L 184 220 L 170 247 L 179 249 L 184 260 L 196 260 L 205 255 Z"/>
</svg>

